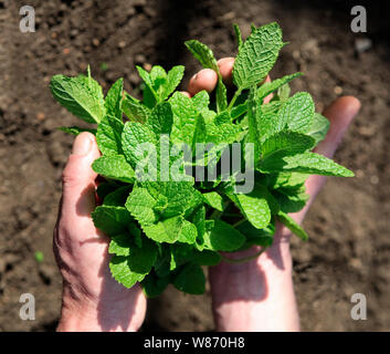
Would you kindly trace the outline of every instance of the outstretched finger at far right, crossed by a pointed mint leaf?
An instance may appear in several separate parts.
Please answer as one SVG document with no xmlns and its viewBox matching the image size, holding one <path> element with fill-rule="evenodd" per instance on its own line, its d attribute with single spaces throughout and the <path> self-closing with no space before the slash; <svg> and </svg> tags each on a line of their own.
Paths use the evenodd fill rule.
<svg viewBox="0 0 390 354">
<path fill-rule="evenodd" d="M 318 144 L 314 152 L 331 158 L 338 145 L 341 143 L 344 134 L 358 114 L 359 110 L 360 102 L 352 96 L 340 97 L 327 107 L 324 111 L 324 115 L 330 122 L 329 132 L 326 135 L 326 138 Z M 318 175 L 313 175 L 306 180 L 306 191 L 310 198 L 305 208 L 293 216 L 296 221 L 301 222 L 303 220 L 307 209 L 324 186 L 325 181 L 326 177 Z"/>
</svg>

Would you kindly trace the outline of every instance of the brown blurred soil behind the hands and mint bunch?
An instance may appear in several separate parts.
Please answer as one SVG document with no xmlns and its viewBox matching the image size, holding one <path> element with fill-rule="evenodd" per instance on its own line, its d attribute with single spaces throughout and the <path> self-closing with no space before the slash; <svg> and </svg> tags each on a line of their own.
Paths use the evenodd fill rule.
<svg viewBox="0 0 390 354">
<path fill-rule="evenodd" d="M 75 75 L 91 64 L 105 91 L 124 76 L 126 90 L 138 95 L 135 64 L 185 64 L 190 77 L 199 65 L 185 40 L 231 56 L 233 22 L 246 37 L 251 22 L 271 21 L 291 43 L 273 77 L 303 71 L 293 90 L 310 92 L 317 111 L 341 94 L 362 103 L 336 154 L 356 178 L 329 178 L 304 222 L 310 240 L 293 241 L 302 327 L 390 330 L 389 1 L 31 0 L 36 31 L 21 33 L 24 4 L 0 0 L 0 331 L 54 331 L 60 314 L 52 230 L 73 138 L 56 127 L 76 118 L 51 97 L 50 77 Z M 367 33 L 350 30 L 355 4 L 366 6 Z M 369 48 L 357 53 L 357 43 L 367 39 Z M 36 251 L 44 254 L 42 263 Z M 27 292 L 35 295 L 35 321 L 19 317 Z M 367 296 L 366 321 L 350 317 L 354 293 Z M 149 301 L 143 330 L 213 330 L 209 293 L 168 289 Z"/>
</svg>

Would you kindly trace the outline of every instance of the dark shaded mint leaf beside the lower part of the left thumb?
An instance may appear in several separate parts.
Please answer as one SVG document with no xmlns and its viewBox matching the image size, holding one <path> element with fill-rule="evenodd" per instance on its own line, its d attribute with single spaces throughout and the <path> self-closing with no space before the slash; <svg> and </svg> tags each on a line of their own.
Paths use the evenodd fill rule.
<svg viewBox="0 0 390 354">
<path fill-rule="evenodd" d="M 128 226 L 133 223 L 133 218 L 126 208 L 112 206 L 96 207 L 92 212 L 92 219 L 97 229 L 110 237 L 126 232 Z"/>
</svg>

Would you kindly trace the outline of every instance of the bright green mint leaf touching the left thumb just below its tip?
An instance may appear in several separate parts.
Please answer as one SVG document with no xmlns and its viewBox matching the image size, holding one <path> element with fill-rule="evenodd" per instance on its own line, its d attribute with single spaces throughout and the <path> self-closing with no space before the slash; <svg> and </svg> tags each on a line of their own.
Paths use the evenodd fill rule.
<svg viewBox="0 0 390 354">
<path fill-rule="evenodd" d="M 96 174 L 124 183 L 133 184 L 135 178 L 133 167 L 127 163 L 125 156 L 102 156 L 92 164 Z"/>
</svg>

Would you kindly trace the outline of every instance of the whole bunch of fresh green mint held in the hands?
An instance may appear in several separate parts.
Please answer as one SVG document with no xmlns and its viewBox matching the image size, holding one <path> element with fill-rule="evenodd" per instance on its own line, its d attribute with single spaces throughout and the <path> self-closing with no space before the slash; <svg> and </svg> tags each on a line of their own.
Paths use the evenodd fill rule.
<svg viewBox="0 0 390 354">
<path fill-rule="evenodd" d="M 288 212 L 305 206 L 308 175 L 354 176 L 312 153 L 328 121 L 315 113 L 308 93 L 289 95 L 288 82 L 301 73 L 264 83 L 285 44 L 278 24 L 253 27 L 244 42 L 234 30 L 236 91 L 229 102 L 212 51 L 198 41 L 186 45 L 203 67 L 218 73 L 212 102 L 205 91 L 191 98 L 175 91 L 183 66 L 168 73 L 158 65 L 150 72 L 137 67 L 143 101 L 124 92 L 122 79 L 104 97 L 89 70 L 87 76 L 51 81 L 60 104 L 97 124 L 62 129 L 96 135 L 102 157 L 93 169 L 105 183 L 97 188 L 102 205 L 92 217 L 110 237 L 113 277 L 126 288 L 140 282 L 148 296 L 169 283 L 203 293 L 202 266 L 229 261 L 229 253 L 220 252 L 270 247 L 277 221 L 306 240 Z"/>
</svg>

